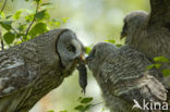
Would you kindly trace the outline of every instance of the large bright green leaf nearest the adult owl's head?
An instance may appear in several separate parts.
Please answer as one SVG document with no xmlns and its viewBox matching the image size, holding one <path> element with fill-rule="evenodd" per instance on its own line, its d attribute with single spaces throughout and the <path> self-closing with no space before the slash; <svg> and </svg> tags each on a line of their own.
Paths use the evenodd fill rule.
<svg viewBox="0 0 170 112">
<path fill-rule="evenodd" d="M 42 34 L 42 33 L 45 33 L 45 32 L 47 32 L 47 30 L 48 30 L 48 28 L 47 28 L 46 23 L 40 22 L 40 23 L 37 23 L 37 24 L 31 29 L 29 35 L 31 35 L 32 38 L 33 38 L 33 37 L 39 35 L 39 34 Z"/>
</svg>

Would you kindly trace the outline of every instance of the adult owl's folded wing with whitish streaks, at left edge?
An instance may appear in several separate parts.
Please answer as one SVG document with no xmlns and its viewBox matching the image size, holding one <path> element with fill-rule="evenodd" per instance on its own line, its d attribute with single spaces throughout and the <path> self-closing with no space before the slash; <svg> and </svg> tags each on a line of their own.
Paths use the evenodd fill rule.
<svg viewBox="0 0 170 112">
<path fill-rule="evenodd" d="M 23 58 L 0 52 L 0 97 L 28 86 L 35 76 L 36 71 L 27 70 Z"/>
</svg>

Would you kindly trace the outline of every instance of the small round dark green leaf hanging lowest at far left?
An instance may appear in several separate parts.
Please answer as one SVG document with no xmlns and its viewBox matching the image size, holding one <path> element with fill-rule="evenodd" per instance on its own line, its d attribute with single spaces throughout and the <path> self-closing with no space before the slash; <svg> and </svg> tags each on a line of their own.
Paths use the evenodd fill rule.
<svg viewBox="0 0 170 112">
<path fill-rule="evenodd" d="M 14 35 L 13 33 L 11 33 L 11 32 L 8 32 L 8 33 L 5 33 L 5 34 L 3 35 L 3 39 L 4 39 L 4 41 L 5 41 L 8 45 L 10 45 L 10 43 L 12 43 L 13 40 L 15 39 L 15 35 Z"/>
</svg>

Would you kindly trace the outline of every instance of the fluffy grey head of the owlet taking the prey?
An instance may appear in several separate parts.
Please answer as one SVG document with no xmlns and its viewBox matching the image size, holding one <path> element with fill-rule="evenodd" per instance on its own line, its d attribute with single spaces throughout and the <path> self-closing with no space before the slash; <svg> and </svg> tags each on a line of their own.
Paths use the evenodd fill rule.
<svg viewBox="0 0 170 112">
<path fill-rule="evenodd" d="M 98 70 L 107 57 L 114 52 L 117 47 L 110 42 L 98 42 L 93 47 L 89 55 L 86 58 L 89 70 Z"/>
</svg>

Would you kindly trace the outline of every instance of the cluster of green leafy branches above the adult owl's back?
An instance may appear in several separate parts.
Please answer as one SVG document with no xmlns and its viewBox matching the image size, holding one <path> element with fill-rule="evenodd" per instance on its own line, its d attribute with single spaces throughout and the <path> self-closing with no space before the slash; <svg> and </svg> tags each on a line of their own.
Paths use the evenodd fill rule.
<svg viewBox="0 0 170 112">
<path fill-rule="evenodd" d="M 37 5 L 36 9 L 20 9 L 13 15 L 0 12 L 0 26 L 3 28 L 2 35 L 5 46 L 11 47 L 15 43 L 21 43 L 21 40 L 22 42 L 27 41 L 66 23 L 68 17 L 59 20 L 50 18 L 49 7 L 47 7 L 51 5 L 50 2 L 42 2 L 42 0 L 33 1 Z"/>
</svg>

